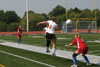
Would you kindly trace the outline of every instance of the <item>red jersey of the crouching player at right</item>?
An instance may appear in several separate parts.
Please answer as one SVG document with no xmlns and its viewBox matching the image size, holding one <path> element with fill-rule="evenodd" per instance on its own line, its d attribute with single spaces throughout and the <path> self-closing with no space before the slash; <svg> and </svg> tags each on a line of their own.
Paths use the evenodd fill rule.
<svg viewBox="0 0 100 67">
<path fill-rule="evenodd" d="M 72 44 L 74 44 L 74 45 L 77 44 L 78 48 L 82 48 L 82 49 L 88 48 L 88 46 L 86 45 L 86 43 L 84 42 L 84 40 L 82 38 L 76 37 L 73 40 Z"/>
</svg>

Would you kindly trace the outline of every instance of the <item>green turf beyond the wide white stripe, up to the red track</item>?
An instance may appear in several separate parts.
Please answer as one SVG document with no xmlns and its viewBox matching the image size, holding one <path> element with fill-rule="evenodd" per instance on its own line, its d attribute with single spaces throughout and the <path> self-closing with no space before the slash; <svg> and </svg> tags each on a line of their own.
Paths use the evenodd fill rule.
<svg viewBox="0 0 100 67">
<path fill-rule="evenodd" d="M 100 56 L 100 53 L 99 53 L 100 52 L 100 48 L 99 48 L 100 44 L 96 43 L 96 42 L 87 42 L 87 41 L 100 40 L 100 34 L 81 34 L 81 37 L 85 40 L 85 42 L 89 46 L 88 53 Z M 67 47 L 67 48 L 65 47 L 65 44 L 69 44 L 73 41 L 73 39 L 74 39 L 73 34 L 57 34 L 57 38 L 66 38 L 66 39 L 57 39 L 57 49 L 69 50 L 69 51 L 76 50 L 76 48 L 73 48 L 73 47 Z M 0 39 L 17 42 L 16 35 L 0 36 Z M 33 35 L 33 36 L 23 35 L 22 43 L 45 47 L 45 37 L 44 37 L 44 35 Z"/>
</svg>

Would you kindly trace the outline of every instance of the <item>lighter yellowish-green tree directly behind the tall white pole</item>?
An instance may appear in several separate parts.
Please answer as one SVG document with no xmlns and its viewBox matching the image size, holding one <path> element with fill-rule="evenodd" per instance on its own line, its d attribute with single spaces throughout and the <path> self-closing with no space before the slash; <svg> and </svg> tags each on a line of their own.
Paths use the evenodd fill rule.
<svg viewBox="0 0 100 67">
<path fill-rule="evenodd" d="M 42 30 L 43 25 L 36 26 L 36 23 L 39 21 L 44 21 L 44 20 L 46 20 L 44 15 L 36 14 L 33 11 L 29 11 L 29 30 L 30 31 Z M 27 28 L 26 13 L 20 23 L 21 23 L 22 27 L 26 30 L 26 28 Z"/>
</svg>

